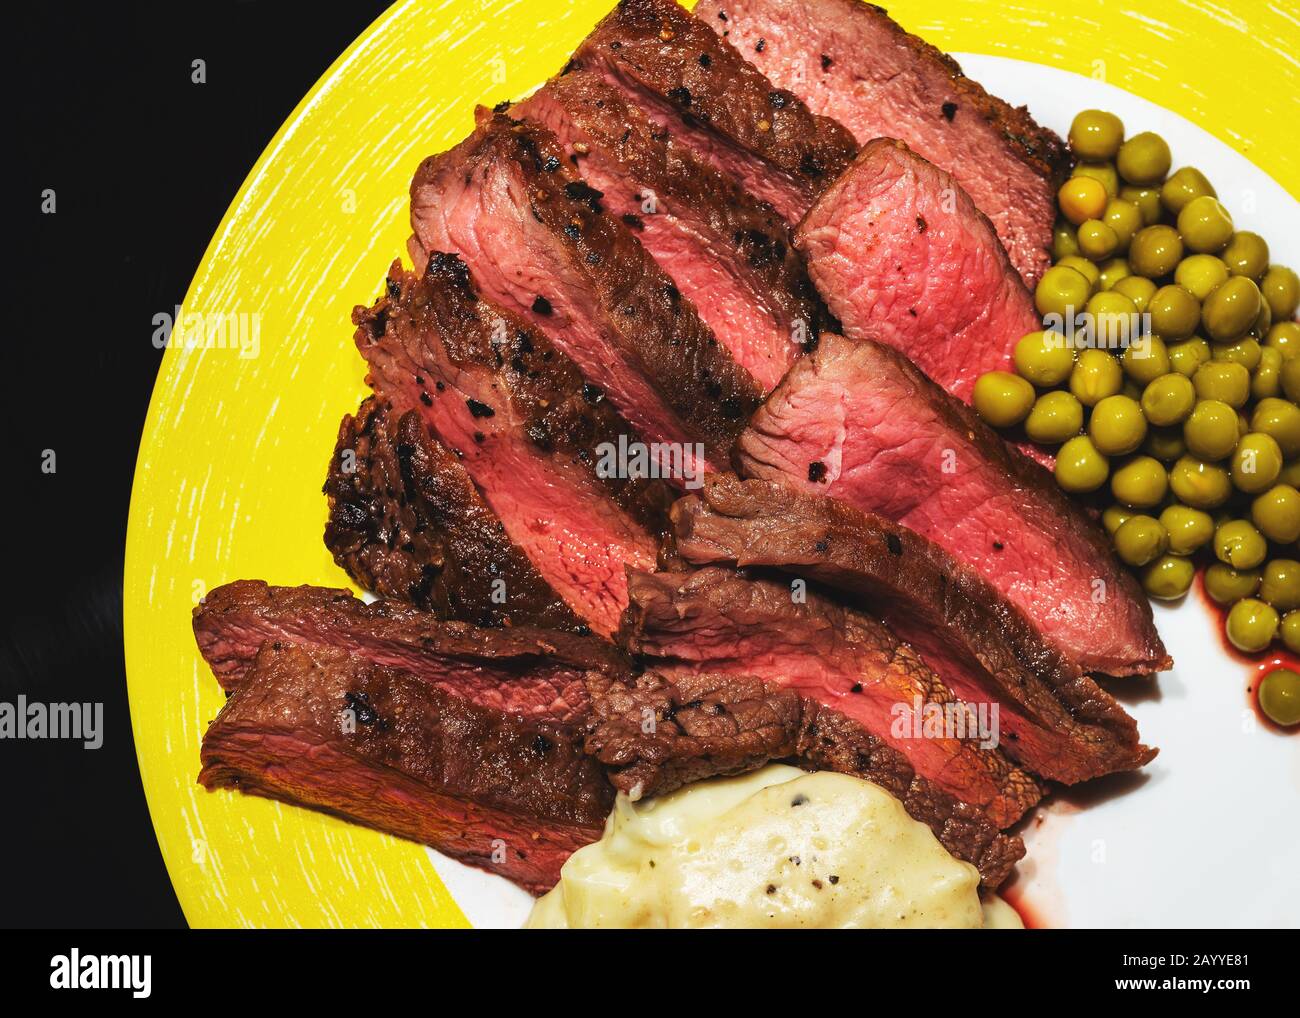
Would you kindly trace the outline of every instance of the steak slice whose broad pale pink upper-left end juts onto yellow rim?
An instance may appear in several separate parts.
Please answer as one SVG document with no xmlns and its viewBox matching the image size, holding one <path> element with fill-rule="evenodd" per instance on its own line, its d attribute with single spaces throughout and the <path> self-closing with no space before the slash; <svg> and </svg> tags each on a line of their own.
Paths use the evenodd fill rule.
<svg viewBox="0 0 1300 1018">
<path fill-rule="evenodd" d="M 758 384 L 550 131 L 497 114 L 426 159 L 411 225 L 417 270 L 436 251 L 460 255 L 482 295 L 545 334 L 646 441 L 673 443 L 692 476 L 725 464 Z"/>
</svg>

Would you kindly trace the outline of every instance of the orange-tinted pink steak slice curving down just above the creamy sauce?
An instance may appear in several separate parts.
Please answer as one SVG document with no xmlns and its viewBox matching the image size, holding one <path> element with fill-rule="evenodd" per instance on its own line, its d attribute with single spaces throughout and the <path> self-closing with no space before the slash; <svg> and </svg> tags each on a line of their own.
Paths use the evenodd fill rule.
<svg viewBox="0 0 1300 1018">
<path fill-rule="evenodd" d="M 949 709 L 967 723 L 942 680 L 876 619 L 814 592 L 732 569 L 629 571 L 620 638 L 655 671 L 750 675 L 836 710 L 906 757 L 923 777 L 978 806 L 998 827 L 1043 794 L 1037 780 L 992 748 L 974 722 L 922 728 Z"/>
</svg>

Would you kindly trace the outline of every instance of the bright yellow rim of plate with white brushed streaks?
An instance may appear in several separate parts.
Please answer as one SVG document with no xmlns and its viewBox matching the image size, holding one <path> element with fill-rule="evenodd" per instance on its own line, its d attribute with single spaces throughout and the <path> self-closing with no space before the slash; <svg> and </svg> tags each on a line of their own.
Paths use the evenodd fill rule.
<svg viewBox="0 0 1300 1018">
<path fill-rule="evenodd" d="M 194 277 L 140 445 L 124 590 L 140 774 L 192 926 L 465 924 L 421 848 L 195 784 L 222 696 L 188 616 L 239 577 L 346 584 L 321 543 L 320 488 L 339 417 L 364 393 L 348 312 L 404 250 L 411 174 L 469 131 L 474 103 L 519 98 L 559 68 L 610 4 L 391 8 L 281 127 Z M 1208 0 L 1122 7 L 1082 17 L 1045 0 L 907 0 L 890 10 L 944 49 L 1104 77 L 1300 195 L 1290 134 L 1300 20 L 1265 3 L 1232 4 L 1234 14 Z M 187 346 L 231 324 L 242 329 Z"/>
</svg>

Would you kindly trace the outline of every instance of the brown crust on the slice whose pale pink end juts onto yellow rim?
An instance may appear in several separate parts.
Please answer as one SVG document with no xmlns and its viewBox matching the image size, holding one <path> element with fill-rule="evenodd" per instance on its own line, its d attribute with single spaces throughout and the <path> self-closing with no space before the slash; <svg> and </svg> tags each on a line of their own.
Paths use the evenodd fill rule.
<svg viewBox="0 0 1300 1018">
<path fill-rule="evenodd" d="M 718 343 L 632 231 L 604 212 L 599 192 L 572 172 L 550 131 L 494 114 L 451 152 L 421 163 L 411 185 L 420 254 L 428 257 L 433 252 L 428 238 L 434 230 L 421 224 L 421 217 L 443 215 L 437 209 L 445 187 L 473 186 L 476 176 L 486 178 L 493 172 L 507 172 L 519 192 L 526 195 L 526 209 L 519 209 L 520 222 L 529 229 L 536 224 L 547 233 L 550 250 L 560 252 L 566 272 L 581 285 L 578 294 L 538 294 L 532 321 L 541 326 L 562 300 L 581 306 L 597 320 L 611 354 L 638 380 L 649 382 L 681 423 L 684 434 L 702 442 L 710 460 L 725 463 L 745 419 L 762 398 L 758 384 Z M 484 267 L 472 264 L 471 269 L 480 276 Z M 540 280 L 538 286 L 546 290 L 546 281 Z M 545 326 L 540 330 L 547 332 Z M 547 334 L 554 346 L 562 346 L 562 335 L 554 330 Z M 594 374 L 598 351 L 566 352 L 578 361 L 589 382 L 602 382 Z M 584 364 L 577 356 L 584 352 L 594 359 Z M 604 387 L 633 425 L 658 416 L 656 411 L 641 413 L 641 408 L 628 404 L 628 394 Z M 647 441 L 666 437 L 645 434 Z"/>
</svg>

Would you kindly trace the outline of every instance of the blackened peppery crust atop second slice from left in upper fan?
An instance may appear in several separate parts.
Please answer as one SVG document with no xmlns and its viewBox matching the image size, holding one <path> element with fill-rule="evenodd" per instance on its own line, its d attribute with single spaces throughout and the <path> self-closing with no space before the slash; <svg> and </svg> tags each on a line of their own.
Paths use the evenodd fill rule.
<svg viewBox="0 0 1300 1018">
<path fill-rule="evenodd" d="M 385 295 L 369 308 L 356 308 L 352 321 L 358 350 L 381 393 L 412 402 L 413 390 L 421 406 L 439 398 L 441 380 L 420 373 L 437 367 L 424 350 L 437 342 L 458 377 L 477 369 L 491 378 L 497 398 L 517 411 L 540 450 L 578 464 L 649 533 L 664 533 L 673 499 L 664 481 L 598 469 L 601 443 L 616 446 L 620 436 L 637 442 L 640 436 L 540 330 L 484 300 L 458 255 L 434 252 L 424 276 L 394 261 Z M 441 384 L 451 387 L 452 380 Z M 478 419 L 495 416 L 498 408 L 481 400 L 469 404 Z"/>
</svg>

